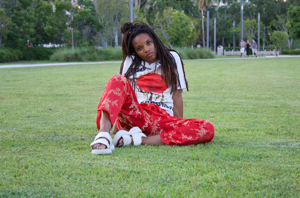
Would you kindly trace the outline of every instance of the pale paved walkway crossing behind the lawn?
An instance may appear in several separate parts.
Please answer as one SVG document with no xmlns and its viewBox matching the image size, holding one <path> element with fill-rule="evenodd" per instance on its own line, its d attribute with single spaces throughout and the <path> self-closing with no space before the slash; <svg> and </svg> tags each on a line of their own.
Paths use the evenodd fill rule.
<svg viewBox="0 0 300 198">
<path fill-rule="evenodd" d="M 283 58 L 283 57 L 300 57 L 300 55 L 278 55 L 278 56 L 258 56 L 257 58 Z M 241 58 L 217 58 L 217 59 L 241 59 Z M 254 59 L 252 57 L 244 57 L 243 59 Z M 216 60 L 216 59 L 199 59 L 199 60 Z M 52 65 L 80 65 L 80 64 L 102 64 L 102 63 L 121 63 L 122 61 L 108 62 L 61 62 L 61 63 L 46 63 L 46 64 L 16 64 L 16 65 L 0 65 L 1 68 L 14 67 L 37 67 L 37 66 L 52 66 Z"/>
</svg>

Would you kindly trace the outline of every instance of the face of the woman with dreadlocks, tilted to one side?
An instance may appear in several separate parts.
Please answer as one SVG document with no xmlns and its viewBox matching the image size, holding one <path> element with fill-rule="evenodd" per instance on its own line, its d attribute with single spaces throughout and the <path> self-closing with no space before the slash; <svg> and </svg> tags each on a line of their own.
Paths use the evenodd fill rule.
<svg viewBox="0 0 300 198">
<path fill-rule="evenodd" d="M 132 40 L 132 45 L 137 55 L 140 56 L 140 58 L 144 61 L 151 64 L 157 60 L 156 49 L 149 34 L 140 33 L 134 37 Z"/>
</svg>

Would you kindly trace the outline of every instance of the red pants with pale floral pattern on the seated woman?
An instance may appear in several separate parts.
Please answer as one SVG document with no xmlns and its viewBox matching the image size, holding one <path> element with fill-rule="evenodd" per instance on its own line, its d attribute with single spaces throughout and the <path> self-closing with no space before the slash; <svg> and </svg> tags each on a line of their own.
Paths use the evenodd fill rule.
<svg viewBox="0 0 300 198">
<path fill-rule="evenodd" d="M 159 134 L 167 145 L 203 144 L 214 138 L 214 126 L 210 121 L 173 117 L 155 104 L 139 104 L 130 82 L 119 74 L 108 81 L 98 105 L 98 130 L 101 110 L 109 113 L 112 125 L 117 121 L 119 130 L 128 131 L 138 126 L 146 136 Z"/>
</svg>

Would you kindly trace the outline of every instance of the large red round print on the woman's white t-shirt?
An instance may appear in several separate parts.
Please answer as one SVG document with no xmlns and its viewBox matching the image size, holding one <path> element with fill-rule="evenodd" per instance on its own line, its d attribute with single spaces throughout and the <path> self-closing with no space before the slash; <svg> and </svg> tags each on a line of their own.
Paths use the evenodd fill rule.
<svg viewBox="0 0 300 198">
<path fill-rule="evenodd" d="M 137 87 L 140 87 L 146 92 L 164 93 L 168 88 L 164 78 L 159 74 L 146 74 L 137 79 Z"/>
</svg>

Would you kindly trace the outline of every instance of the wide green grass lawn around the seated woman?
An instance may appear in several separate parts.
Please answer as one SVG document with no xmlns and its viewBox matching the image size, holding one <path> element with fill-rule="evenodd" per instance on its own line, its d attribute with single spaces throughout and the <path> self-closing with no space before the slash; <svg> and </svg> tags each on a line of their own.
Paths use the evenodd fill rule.
<svg viewBox="0 0 300 198">
<path fill-rule="evenodd" d="M 89 145 L 120 63 L 0 69 L 0 197 L 299 197 L 299 61 L 184 60 L 184 117 L 213 141 L 102 156 Z"/>
</svg>

